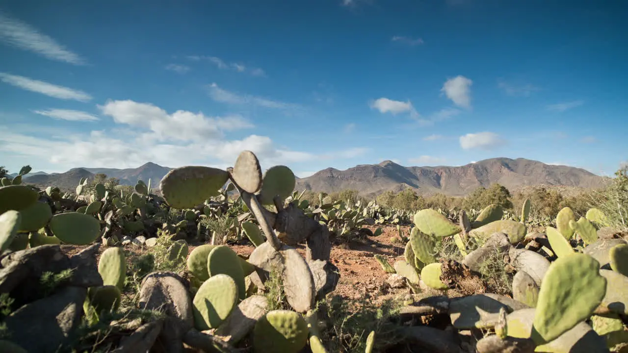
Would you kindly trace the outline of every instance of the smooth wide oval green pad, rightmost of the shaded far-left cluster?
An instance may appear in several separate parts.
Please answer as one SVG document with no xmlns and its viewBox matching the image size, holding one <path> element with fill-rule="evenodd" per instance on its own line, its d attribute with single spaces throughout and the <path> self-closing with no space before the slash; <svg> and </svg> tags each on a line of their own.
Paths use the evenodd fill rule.
<svg viewBox="0 0 628 353">
<path fill-rule="evenodd" d="M 53 215 L 50 231 L 62 242 L 87 245 L 100 236 L 100 222 L 93 216 L 78 212 Z"/>
</svg>

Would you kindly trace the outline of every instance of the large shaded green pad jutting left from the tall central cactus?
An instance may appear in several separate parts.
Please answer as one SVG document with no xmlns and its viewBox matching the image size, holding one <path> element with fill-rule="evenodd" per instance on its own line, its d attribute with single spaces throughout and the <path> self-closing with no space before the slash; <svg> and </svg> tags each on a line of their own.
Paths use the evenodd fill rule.
<svg viewBox="0 0 628 353">
<path fill-rule="evenodd" d="M 229 180 L 229 173 L 207 166 L 183 166 L 161 179 L 161 193 L 170 207 L 192 209 L 207 198 L 218 196 Z"/>
</svg>

